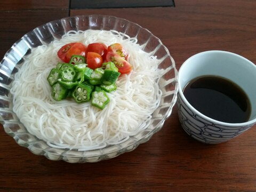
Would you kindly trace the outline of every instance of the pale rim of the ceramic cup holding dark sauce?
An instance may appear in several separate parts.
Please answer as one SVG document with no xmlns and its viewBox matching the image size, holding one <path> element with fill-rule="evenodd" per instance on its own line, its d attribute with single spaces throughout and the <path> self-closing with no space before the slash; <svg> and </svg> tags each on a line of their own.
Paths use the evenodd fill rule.
<svg viewBox="0 0 256 192">
<path fill-rule="evenodd" d="M 201 54 L 208 54 L 208 53 L 226 53 L 226 54 L 231 54 L 231 55 L 234 55 L 235 57 L 239 57 L 245 61 L 247 61 L 248 63 L 250 63 L 251 65 L 253 65 L 254 67 L 256 67 L 254 65 L 253 62 L 251 62 L 250 60 L 244 58 L 243 56 L 241 55 L 238 55 L 236 53 L 232 53 L 232 52 L 229 52 L 229 51 L 221 51 L 221 50 L 210 50 L 210 51 L 203 51 L 203 52 L 199 52 L 199 53 L 196 53 L 194 55 L 192 55 L 191 57 L 189 57 L 186 61 L 184 61 L 178 71 L 178 73 L 180 74 L 180 71 L 183 70 L 183 68 L 185 67 L 186 63 L 188 63 L 191 59 L 193 59 L 194 57 L 198 56 L 198 55 L 201 55 Z M 202 114 L 200 111 L 198 111 L 197 109 L 195 109 L 189 102 L 188 100 L 186 99 L 185 95 L 183 94 L 183 89 L 181 88 L 181 85 L 180 85 L 180 75 L 178 75 L 178 93 L 181 97 L 181 99 L 183 100 L 183 102 L 185 102 L 185 105 L 187 105 L 190 110 L 192 110 L 194 113 L 197 113 L 199 116 L 202 116 L 204 119 L 206 119 L 206 121 L 209 121 L 209 122 L 212 122 L 213 124 L 219 124 L 219 125 L 222 125 L 222 126 L 229 126 L 229 127 L 238 127 L 238 126 L 249 126 L 251 124 L 254 124 L 256 122 L 256 118 L 254 119 L 251 119 L 250 121 L 247 121 L 247 122 L 243 122 L 243 123 L 227 123 L 227 122 L 221 122 L 221 121 L 218 121 L 218 120 L 215 120 L 213 118 L 210 118 L 204 114 Z"/>
</svg>

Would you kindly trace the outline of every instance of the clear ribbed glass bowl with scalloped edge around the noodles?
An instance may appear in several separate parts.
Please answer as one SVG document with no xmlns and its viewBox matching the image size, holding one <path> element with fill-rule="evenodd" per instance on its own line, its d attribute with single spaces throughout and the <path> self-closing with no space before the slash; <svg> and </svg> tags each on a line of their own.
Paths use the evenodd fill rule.
<svg viewBox="0 0 256 192">
<path fill-rule="evenodd" d="M 153 118 L 147 123 L 146 129 L 118 145 L 89 151 L 53 148 L 48 146 L 45 141 L 30 134 L 13 112 L 13 98 L 10 89 L 14 74 L 19 70 L 24 57 L 31 53 L 31 49 L 60 39 L 70 30 L 87 29 L 116 30 L 130 37 L 136 37 L 142 50 L 156 56 L 159 60 L 158 68 L 165 70 L 165 74 L 159 79 L 159 87 L 163 96 L 159 107 L 152 114 Z M 4 55 L 0 65 L 0 122 L 3 124 L 5 132 L 13 137 L 20 146 L 28 148 L 36 155 L 44 155 L 51 160 L 63 160 L 70 163 L 99 162 L 134 150 L 163 127 L 177 100 L 177 74 L 175 62 L 162 42 L 149 30 L 134 22 L 105 15 L 79 15 L 51 21 L 24 35 Z"/>
</svg>

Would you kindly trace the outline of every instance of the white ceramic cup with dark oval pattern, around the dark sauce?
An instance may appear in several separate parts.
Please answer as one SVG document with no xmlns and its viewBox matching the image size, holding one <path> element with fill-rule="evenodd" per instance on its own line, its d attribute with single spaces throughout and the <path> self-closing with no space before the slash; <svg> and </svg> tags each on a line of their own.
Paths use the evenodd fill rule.
<svg viewBox="0 0 256 192">
<path fill-rule="evenodd" d="M 251 102 L 249 121 L 216 121 L 190 105 L 183 94 L 183 89 L 192 79 L 204 75 L 225 77 L 245 91 Z M 225 142 L 245 132 L 256 122 L 256 66 L 244 57 L 226 51 L 205 51 L 195 54 L 182 64 L 178 83 L 179 120 L 186 133 L 194 139 L 211 144 Z"/>
</svg>

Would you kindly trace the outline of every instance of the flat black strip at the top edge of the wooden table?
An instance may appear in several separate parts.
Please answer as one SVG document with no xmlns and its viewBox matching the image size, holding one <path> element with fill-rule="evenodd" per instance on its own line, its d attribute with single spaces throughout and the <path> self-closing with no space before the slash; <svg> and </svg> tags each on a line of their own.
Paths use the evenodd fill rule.
<svg viewBox="0 0 256 192">
<path fill-rule="evenodd" d="M 174 0 L 70 0 L 70 9 L 175 6 Z"/>
</svg>

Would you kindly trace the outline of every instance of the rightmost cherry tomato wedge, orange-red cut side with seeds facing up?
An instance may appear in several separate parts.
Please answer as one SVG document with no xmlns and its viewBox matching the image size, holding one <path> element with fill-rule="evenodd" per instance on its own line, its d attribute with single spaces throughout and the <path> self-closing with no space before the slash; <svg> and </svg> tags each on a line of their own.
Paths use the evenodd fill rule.
<svg viewBox="0 0 256 192">
<path fill-rule="evenodd" d="M 106 60 L 114 62 L 115 66 L 118 68 L 118 72 L 121 74 L 130 73 L 132 70 L 132 65 L 119 54 L 114 53 L 113 51 L 109 51 L 107 53 Z"/>
</svg>

